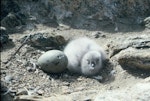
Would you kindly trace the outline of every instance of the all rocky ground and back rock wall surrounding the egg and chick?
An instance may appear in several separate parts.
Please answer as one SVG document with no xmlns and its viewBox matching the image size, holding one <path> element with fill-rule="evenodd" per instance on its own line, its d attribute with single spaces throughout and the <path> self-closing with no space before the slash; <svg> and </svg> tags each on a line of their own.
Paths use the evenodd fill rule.
<svg viewBox="0 0 150 101">
<path fill-rule="evenodd" d="M 2 0 L 2 101 L 149 101 L 149 0 L 57 1 Z M 97 76 L 37 65 L 44 52 L 83 36 L 107 53 Z"/>
</svg>

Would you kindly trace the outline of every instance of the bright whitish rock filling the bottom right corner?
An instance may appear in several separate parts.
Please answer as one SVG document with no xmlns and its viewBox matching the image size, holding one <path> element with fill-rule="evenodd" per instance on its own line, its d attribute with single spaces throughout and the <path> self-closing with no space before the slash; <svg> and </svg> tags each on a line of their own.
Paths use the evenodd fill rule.
<svg viewBox="0 0 150 101">
<path fill-rule="evenodd" d="M 150 82 L 138 83 L 133 87 L 100 92 L 94 101 L 149 101 Z"/>
</svg>

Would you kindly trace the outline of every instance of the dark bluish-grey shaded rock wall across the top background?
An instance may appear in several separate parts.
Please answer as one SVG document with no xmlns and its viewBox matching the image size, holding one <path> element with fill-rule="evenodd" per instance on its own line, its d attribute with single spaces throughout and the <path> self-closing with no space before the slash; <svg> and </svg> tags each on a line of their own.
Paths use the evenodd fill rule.
<svg viewBox="0 0 150 101">
<path fill-rule="evenodd" d="M 2 0 L 1 6 L 5 9 L 2 9 L 1 22 L 5 27 L 14 28 L 35 18 L 31 22 L 57 22 L 57 24 L 63 22 L 75 27 L 80 25 L 93 27 L 96 25 L 91 24 L 91 20 L 107 19 L 107 22 L 115 24 L 117 30 L 118 24 L 123 21 L 120 22 L 119 18 L 127 17 L 129 24 L 132 25 L 140 24 L 150 14 L 149 4 L 149 0 Z M 124 21 L 123 23 L 127 24 Z"/>
</svg>

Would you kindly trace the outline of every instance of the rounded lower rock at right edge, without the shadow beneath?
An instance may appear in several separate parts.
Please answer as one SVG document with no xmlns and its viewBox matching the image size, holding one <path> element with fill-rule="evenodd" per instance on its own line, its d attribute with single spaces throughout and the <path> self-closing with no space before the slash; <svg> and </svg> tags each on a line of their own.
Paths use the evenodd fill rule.
<svg viewBox="0 0 150 101">
<path fill-rule="evenodd" d="M 121 51 L 117 57 L 121 66 L 150 70 L 150 49 L 128 48 Z"/>
</svg>

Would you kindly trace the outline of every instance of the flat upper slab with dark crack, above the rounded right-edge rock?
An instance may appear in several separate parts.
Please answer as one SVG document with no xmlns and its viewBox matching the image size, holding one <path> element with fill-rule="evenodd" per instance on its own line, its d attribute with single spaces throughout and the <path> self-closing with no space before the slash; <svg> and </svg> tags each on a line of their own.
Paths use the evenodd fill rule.
<svg viewBox="0 0 150 101">
<path fill-rule="evenodd" d="M 109 56 L 112 57 L 128 47 L 136 49 L 150 48 L 150 34 L 140 36 L 130 36 L 127 38 L 116 38 L 108 44 Z"/>
</svg>

